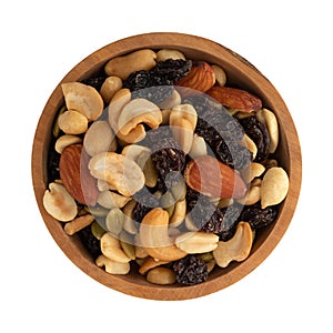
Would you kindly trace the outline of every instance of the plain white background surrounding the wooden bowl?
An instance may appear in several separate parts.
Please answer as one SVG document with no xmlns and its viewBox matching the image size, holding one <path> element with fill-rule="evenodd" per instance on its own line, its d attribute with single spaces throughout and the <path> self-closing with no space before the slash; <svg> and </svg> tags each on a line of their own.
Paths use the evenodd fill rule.
<svg viewBox="0 0 333 333">
<path fill-rule="evenodd" d="M 332 332 L 331 13 L 323 0 L 2 1 L 0 331 Z M 53 88 L 92 51 L 152 31 L 242 54 L 279 90 L 302 143 L 300 202 L 278 248 L 242 281 L 191 301 L 128 296 L 82 273 L 47 231 L 31 183 Z"/>
</svg>

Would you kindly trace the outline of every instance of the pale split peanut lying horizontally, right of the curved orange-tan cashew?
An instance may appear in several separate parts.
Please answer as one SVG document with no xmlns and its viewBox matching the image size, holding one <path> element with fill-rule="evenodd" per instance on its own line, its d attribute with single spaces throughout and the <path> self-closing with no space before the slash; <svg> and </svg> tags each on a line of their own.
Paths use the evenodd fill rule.
<svg viewBox="0 0 333 333">
<path fill-rule="evenodd" d="M 203 231 L 186 232 L 175 239 L 175 245 L 186 253 L 205 253 L 216 249 L 219 236 Z"/>
</svg>

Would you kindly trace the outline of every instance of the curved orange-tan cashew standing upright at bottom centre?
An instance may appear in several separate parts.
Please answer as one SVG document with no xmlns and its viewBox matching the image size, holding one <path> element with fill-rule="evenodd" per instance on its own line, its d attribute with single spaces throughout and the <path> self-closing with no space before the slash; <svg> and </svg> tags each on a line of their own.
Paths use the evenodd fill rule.
<svg viewBox="0 0 333 333">
<path fill-rule="evenodd" d="M 186 255 L 176 248 L 168 233 L 169 214 L 161 208 L 151 210 L 140 225 L 140 242 L 145 252 L 163 261 L 174 261 Z"/>
</svg>

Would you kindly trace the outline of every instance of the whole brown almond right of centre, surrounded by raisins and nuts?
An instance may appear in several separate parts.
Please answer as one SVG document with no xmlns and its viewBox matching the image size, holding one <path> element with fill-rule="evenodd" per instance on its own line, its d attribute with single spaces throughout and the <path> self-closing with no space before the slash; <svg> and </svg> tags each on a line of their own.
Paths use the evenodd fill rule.
<svg viewBox="0 0 333 333">
<path fill-rule="evenodd" d="M 184 178 L 191 189 L 213 198 L 239 199 L 246 193 L 244 181 L 234 170 L 210 155 L 190 161 Z"/>
</svg>

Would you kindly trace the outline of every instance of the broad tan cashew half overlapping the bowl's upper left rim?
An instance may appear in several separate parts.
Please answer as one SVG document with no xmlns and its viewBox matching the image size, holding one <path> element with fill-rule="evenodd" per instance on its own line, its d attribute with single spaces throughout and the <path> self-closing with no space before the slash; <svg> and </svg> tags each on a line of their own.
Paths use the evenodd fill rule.
<svg viewBox="0 0 333 333">
<path fill-rule="evenodd" d="M 104 108 L 100 93 L 91 85 L 80 82 L 62 83 L 61 89 L 68 110 L 83 114 L 89 121 L 98 119 Z"/>
</svg>

